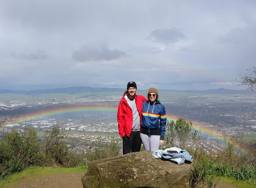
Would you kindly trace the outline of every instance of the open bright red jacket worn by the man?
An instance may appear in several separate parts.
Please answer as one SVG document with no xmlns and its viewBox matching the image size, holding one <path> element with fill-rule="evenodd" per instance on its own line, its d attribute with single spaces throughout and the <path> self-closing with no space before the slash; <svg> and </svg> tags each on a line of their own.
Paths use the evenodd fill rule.
<svg viewBox="0 0 256 188">
<path fill-rule="evenodd" d="M 119 135 L 121 137 L 124 137 L 125 134 L 129 137 L 132 132 L 132 122 L 133 122 L 132 108 L 127 102 L 126 94 L 127 94 L 127 91 L 124 92 L 123 98 L 119 102 L 118 110 L 117 110 L 118 130 L 119 130 Z M 142 95 L 137 95 L 137 94 L 135 95 L 135 103 L 139 111 L 140 123 L 142 119 L 143 101 L 146 101 L 145 97 L 143 97 Z"/>
</svg>

